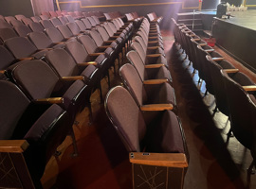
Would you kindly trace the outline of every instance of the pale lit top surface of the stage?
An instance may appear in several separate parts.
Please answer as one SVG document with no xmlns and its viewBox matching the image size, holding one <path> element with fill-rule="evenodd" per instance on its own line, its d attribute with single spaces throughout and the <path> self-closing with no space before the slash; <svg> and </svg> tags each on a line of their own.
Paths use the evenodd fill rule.
<svg viewBox="0 0 256 189">
<path fill-rule="evenodd" d="M 256 9 L 247 11 L 231 11 L 229 19 L 220 19 L 237 26 L 243 26 L 248 29 L 256 30 Z"/>
</svg>

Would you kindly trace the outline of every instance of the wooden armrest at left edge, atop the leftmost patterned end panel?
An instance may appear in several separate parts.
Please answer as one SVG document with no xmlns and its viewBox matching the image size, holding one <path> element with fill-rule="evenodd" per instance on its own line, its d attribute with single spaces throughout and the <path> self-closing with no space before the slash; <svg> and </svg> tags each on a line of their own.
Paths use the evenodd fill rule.
<svg viewBox="0 0 256 189">
<path fill-rule="evenodd" d="M 26 140 L 0 140 L 0 152 L 22 153 L 28 146 Z"/>
</svg>

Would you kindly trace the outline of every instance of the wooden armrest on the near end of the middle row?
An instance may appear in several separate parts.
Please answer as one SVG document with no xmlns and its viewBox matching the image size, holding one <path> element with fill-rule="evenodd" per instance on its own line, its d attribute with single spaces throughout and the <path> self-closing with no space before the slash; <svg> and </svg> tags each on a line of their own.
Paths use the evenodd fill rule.
<svg viewBox="0 0 256 189">
<path fill-rule="evenodd" d="M 188 167 L 186 155 L 184 153 L 150 153 L 131 152 L 130 163 L 147 164 L 154 166 Z"/>
</svg>

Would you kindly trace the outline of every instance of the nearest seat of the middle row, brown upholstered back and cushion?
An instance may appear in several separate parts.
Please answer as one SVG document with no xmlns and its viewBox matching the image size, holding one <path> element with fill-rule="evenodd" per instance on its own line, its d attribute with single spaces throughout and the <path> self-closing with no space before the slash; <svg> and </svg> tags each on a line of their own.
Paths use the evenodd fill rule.
<svg viewBox="0 0 256 189">
<path fill-rule="evenodd" d="M 186 154 L 183 129 L 174 112 L 159 112 L 150 122 L 129 92 L 120 86 L 106 95 L 105 110 L 127 151 Z"/>
</svg>

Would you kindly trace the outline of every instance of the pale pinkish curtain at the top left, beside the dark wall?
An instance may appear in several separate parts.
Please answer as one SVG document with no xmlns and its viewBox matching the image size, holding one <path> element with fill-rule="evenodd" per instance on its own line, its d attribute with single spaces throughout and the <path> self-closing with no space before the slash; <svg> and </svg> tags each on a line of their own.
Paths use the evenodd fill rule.
<svg viewBox="0 0 256 189">
<path fill-rule="evenodd" d="M 52 0 L 31 0 L 34 15 L 41 15 L 43 11 L 54 10 Z"/>
</svg>

